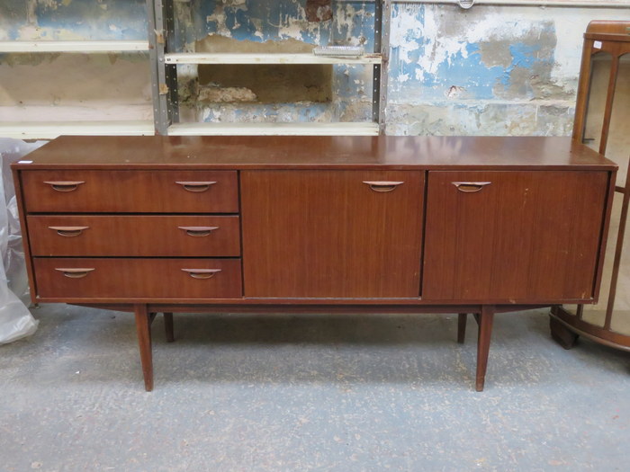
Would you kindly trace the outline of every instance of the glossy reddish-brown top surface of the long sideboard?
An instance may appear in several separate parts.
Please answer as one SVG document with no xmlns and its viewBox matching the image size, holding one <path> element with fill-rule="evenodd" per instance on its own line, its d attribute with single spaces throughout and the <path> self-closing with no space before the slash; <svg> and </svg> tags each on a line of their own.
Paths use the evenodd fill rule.
<svg viewBox="0 0 630 472">
<path fill-rule="evenodd" d="M 16 169 L 599 169 L 617 165 L 572 138 L 60 137 Z"/>
</svg>

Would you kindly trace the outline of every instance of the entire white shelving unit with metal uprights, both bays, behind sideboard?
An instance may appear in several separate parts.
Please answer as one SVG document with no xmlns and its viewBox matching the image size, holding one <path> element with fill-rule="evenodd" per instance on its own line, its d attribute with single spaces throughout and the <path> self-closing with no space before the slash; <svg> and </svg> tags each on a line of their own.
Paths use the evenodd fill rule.
<svg viewBox="0 0 630 472">
<path fill-rule="evenodd" d="M 336 0 L 343 2 L 344 0 Z M 175 43 L 174 0 L 146 0 L 147 40 L 20 40 L 0 41 L 2 54 L 148 53 L 154 120 L 39 120 L 0 121 L 0 137 L 50 139 L 61 135 L 365 135 L 383 132 L 387 83 L 389 20 L 392 0 L 374 0 L 374 53 L 357 58 L 325 57 L 311 53 L 178 53 Z M 315 45 L 313 45 L 314 47 Z M 0 56 L 1 60 L 1 56 Z M 314 64 L 373 67 L 372 121 L 293 123 L 180 123 L 177 66 L 202 64 Z"/>
</svg>

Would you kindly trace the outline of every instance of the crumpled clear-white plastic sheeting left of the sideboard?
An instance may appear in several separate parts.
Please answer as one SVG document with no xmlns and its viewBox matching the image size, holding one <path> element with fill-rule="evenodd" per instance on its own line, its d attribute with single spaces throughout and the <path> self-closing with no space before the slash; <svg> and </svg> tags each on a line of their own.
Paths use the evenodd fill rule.
<svg viewBox="0 0 630 472">
<path fill-rule="evenodd" d="M 0 200 L 0 344 L 29 336 L 37 329 L 38 322 L 25 305 L 29 303 L 29 286 L 9 165 L 42 144 L 0 138 L 0 195 L 4 197 Z"/>
</svg>

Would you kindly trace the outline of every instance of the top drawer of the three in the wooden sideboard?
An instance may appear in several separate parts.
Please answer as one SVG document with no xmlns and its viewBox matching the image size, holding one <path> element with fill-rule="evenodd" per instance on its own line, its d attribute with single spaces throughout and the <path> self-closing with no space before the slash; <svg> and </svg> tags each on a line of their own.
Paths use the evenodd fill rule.
<svg viewBox="0 0 630 472">
<path fill-rule="evenodd" d="M 34 212 L 238 213 L 234 171 L 23 171 Z"/>
</svg>

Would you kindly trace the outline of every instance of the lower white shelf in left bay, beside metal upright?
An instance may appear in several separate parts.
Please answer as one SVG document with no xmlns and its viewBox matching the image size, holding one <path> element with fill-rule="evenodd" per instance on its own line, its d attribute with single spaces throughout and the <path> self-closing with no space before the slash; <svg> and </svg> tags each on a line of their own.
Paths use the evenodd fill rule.
<svg viewBox="0 0 630 472">
<path fill-rule="evenodd" d="M 4 121 L 0 138 L 53 139 L 58 136 L 153 135 L 153 121 Z"/>
</svg>

